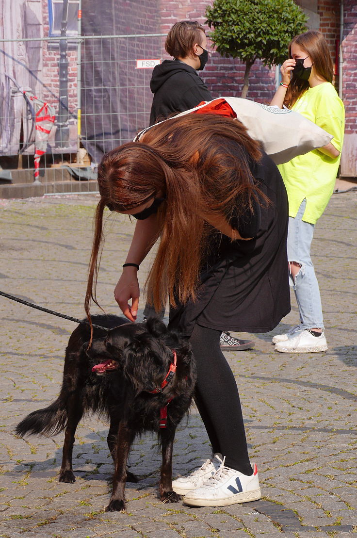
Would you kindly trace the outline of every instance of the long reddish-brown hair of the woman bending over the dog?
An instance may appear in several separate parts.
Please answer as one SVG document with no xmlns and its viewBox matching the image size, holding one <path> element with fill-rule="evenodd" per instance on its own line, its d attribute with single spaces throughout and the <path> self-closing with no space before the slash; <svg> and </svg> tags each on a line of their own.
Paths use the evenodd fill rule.
<svg viewBox="0 0 357 538">
<path fill-rule="evenodd" d="M 225 151 L 233 145 L 233 151 Z M 255 185 L 249 160 L 261 157 L 258 143 L 237 120 L 188 114 L 155 125 L 141 141 L 117 147 L 98 167 L 101 200 L 89 266 L 85 310 L 96 300 L 98 252 L 103 239 L 103 212 L 131 210 L 161 192 L 160 244 L 147 279 L 147 295 L 156 310 L 195 299 L 198 275 L 212 227 L 204 215 L 226 215 L 252 208 L 264 196 Z M 238 204 L 238 207 L 237 207 Z M 134 213 L 135 211 L 133 211 Z"/>
</svg>

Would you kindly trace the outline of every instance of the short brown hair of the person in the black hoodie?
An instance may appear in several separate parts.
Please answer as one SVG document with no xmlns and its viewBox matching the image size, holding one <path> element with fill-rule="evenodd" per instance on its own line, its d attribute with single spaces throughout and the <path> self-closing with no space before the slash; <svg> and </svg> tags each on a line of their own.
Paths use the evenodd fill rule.
<svg viewBox="0 0 357 538">
<path fill-rule="evenodd" d="M 174 58 L 186 58 L 195 43 L 201 44 L 204 27 L 197 20 L 181 20 L 175 23 L 167 34 L 165 50 Z"/>
</svg>

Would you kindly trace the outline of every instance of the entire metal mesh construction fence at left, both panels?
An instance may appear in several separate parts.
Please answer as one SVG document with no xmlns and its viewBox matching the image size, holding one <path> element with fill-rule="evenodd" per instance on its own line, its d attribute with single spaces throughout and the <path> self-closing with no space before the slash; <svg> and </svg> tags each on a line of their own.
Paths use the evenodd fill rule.
<svg viewBox="0 0 357 538">
<path fill-rule="evenodd" d="M 165 34 L 63 39 L 0 40 L 0 197 L 93 192 L 103 154 L 148 125 L 153 62 L 138 60 L 160 59 Z"/>
</svg>

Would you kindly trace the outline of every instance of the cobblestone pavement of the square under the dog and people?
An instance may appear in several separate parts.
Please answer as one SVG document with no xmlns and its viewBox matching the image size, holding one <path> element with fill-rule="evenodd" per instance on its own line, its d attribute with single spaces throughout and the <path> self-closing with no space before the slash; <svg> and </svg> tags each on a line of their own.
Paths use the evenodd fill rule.
<svg viewBox="0 0 357 538">
<path fill-rule="evenodd" d="M 161 504 L 160 455 L 147 435 L 132 449 L 140 477 L 127 484 L 127 511 L 105 513 L 112 472 L 108 424 L 96 416 L 77 429 L 75 484 L 56 476 L 63 435 L 17 439 L 16 424 L 58 394 L 63 356 L 74 323 L 0 297 L 1 478 L 0 536 L 33 538 L 324 537 L 357 532 L 356 518 L 356 193 L 334 195 L 316 228 L 313 254 L 324 305 L 329 350 L 277 353 L 274 334 L 298 320 L 292 312 L 255 348 L 226 353 L 258 464 L 262 499 L 222 509 Z M 46 308 L 82 317 L 95 196 L 0 200 L 0 289 Z M 118 312 L 113 288 L 133 224 L 111 216 L 97 296 Z M 146 263 L 146 269 L 149 261 Z M 140 270 L 141 283 L 145 266 Z M 141 301 L 141 308 L 143 307 Z M 250 336 L 250 335 L 249 335 Z M 174 445 L 174 476 L 210 455 L 193 408 Z"/>
</svg>

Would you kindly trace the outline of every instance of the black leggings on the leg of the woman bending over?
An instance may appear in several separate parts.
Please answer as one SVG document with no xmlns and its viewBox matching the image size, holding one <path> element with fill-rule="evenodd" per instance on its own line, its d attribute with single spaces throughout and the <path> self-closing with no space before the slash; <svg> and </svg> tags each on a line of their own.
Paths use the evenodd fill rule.
<svg viewBox="0 0 357 538">
<path fill-rule="evenodd" d="M 197 323 L 190 338 L 197 363 L 195 402 L 212 444 L 225 465 L 252 475 L 237 384 L 219 347 L 221 331 Z"/>
</svg>

